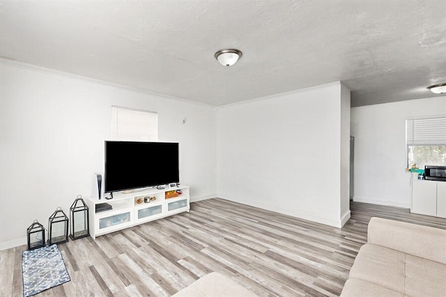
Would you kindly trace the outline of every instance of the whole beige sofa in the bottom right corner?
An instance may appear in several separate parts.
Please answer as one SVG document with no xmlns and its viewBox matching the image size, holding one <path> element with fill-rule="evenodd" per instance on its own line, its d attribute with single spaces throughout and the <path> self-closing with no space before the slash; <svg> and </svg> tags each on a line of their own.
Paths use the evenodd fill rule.
<svg viewBox="0 0 446 297">
<path fill-rule="evenodd" d="M 446 230 L 371 218 L 341 296 L 446 296 Z"/>
</svg>

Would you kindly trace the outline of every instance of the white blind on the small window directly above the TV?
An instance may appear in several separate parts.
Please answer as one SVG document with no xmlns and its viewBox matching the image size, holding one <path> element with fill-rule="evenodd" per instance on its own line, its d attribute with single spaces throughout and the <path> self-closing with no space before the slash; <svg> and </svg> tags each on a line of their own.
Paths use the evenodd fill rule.
<svg viewBox="0 0 446 297">
<path fill-rule="evenodd" d="M 112 139 L 156 142 L 158 140 L 158 114 L 112 106 Z"/>
</svg>

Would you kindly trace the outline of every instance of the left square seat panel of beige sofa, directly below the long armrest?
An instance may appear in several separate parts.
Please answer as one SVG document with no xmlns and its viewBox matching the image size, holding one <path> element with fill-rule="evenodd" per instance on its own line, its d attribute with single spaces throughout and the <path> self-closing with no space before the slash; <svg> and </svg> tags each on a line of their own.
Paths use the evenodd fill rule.
<svg viewBox="0 0 446 297">
<path fill-rule="evenodd" d="M 402 252 L 367 243 L 360 248 L 349 277 L 403 293 L 404 257 Z"/>
</svg>

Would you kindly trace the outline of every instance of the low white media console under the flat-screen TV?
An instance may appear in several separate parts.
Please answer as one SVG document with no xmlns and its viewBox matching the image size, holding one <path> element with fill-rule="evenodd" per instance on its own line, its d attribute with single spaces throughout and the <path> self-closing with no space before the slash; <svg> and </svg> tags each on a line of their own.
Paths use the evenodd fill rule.
<svg viewBox="0 0 446 297">
<path fill-rule="evenodd" d="M 178 197 L 169 197 L 169 191 L 180 190 Z M 174 194 L 175 195 L 175 194 Z M 187 185 L 162 190 L 150 188 L 139 192 L 113 194 L 113 199 L 87 198 L 89 206 L 90 236 L 118 231 L 137 224 L 190 210 L 190 195 Z M 145 201 L 144 201 L 145 200 Z M 96 204 L 107 203 L 112 209 L 96 213 Z"/>
</svg>

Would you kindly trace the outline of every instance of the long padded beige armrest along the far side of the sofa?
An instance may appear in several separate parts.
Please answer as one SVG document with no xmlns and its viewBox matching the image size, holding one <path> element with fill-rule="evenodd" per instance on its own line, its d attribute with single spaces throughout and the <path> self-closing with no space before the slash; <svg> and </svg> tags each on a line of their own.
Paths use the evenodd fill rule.
<svg viewBox="0 0 446 297">
<path fill-rule="evenodd" d="M 446 230 L 371 218 L 367 242 L 446 264 Z"/>
</svg>

